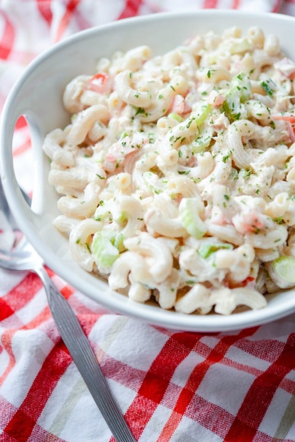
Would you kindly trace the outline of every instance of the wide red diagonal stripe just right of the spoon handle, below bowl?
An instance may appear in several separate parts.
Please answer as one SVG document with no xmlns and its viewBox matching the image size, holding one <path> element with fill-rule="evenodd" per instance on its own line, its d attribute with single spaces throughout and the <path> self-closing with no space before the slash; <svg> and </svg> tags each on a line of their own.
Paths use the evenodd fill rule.
<svg viewBox="0 0 295 442">
<path fill-rule="evenodd" d="M 125 414 L 135 437 L 140 437 L 161 402 L 175 369 L 187 358 L 200 337 L 197 333 L 174 333 L 164 344 Z"/>
</svg>

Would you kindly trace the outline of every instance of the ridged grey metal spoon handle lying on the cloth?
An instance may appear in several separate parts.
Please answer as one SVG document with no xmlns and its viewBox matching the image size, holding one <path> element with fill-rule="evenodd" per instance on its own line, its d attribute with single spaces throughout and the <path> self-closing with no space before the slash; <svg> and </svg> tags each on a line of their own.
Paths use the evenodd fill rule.
<svg viewBox="0 0 295 442">
<path fill-rule="evenodd" d="M 44 267 L 35 269 L 35 272 L 44 283 L 48 304 L 62 340 L 114 438 L 117 442 L 135 442 L 70 304 L 56 289 Z"/>
</svg>

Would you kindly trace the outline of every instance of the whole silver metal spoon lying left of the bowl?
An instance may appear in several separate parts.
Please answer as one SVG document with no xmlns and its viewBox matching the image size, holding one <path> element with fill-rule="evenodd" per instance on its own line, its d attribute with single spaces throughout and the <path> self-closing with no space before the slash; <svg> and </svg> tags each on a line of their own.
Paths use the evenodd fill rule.
<svg viewBox="0 0 295 442">
<path fill-rule="evenodd" d="M 26 195 L 24 196 L 27 199 Z M 0 210 L 4 212 L 10 226 L 14 230 L 18 230 L 6 201 L 1 181 Z M 134 442 L 135 439 L 111 394 L 107 380 L 103 375 L 74 311 L 54 286 L 51 278 L 43 267 L 41 257 L 28 243 L 25 236 L 14 250 L 4 251 L 0 249 L 0 267 L 14 271 L 30 270 L 40 277 L 57 329 L 101 414 L 104 416 L 110 431 L 117 442 Z"/>
</svg>

